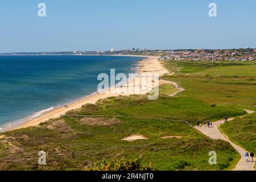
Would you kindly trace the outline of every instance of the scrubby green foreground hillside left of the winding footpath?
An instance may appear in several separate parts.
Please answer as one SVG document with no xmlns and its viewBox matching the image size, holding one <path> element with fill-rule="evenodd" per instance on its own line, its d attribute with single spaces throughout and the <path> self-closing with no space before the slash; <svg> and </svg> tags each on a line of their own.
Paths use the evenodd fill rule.
<svg viewBox="0 0 256 182">
<path fill-rule="evenodd" d="M 148 101 L 146 96 L 131 96 L 101 100 L 97 105 L 85 105 L 69 114 L 136 115 L 195 122 L 196 118 L 218 119 L 226 113 L 241 115 L 244 112 L 233 107 L 210 107 L 209 104 L 187 97 L 160 97 L 157 101 Z M 132 134 L 141 134 L 147 139 L 134 142 L 121 140 Z M 2 161 L 0 169 L 84 169 L 93 168 L 104 159 L 110 161 L 123 156 L 135 159 L 142 155 L 144 166 L 151 164 L 160 170 L 220 170 L 233 167 L 240 158 L 229 143 L 204 137 L 185 122 L 158 119 L 65 116 L 37 127 L 9 131 L 3 135 L 5 137 L 0 139 L 1 157 L 37 155 L 39 150 L 46 151 L 48 155 L 67 156 L 51 157 L 46 166 L 38 166 L 37 158 L 15 159 L 15 163 Z M 167 136 L 182 138 L 160 138 Z M 113 148 L 72 159 L 70 156 L 71 151 L 77 154 L 78 151 L 142 144 L 152 145 Z M 212 150 L 218 154 L 216 166 L 208 163 L 208 153 Z"/>
</svg>

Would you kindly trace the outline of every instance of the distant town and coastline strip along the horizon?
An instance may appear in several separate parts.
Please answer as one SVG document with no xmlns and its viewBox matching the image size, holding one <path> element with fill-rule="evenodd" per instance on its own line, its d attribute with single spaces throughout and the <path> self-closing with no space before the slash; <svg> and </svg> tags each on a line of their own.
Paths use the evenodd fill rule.
<svg viewBox="0 0 256 182">
<path fill-rule="evenodd" d="M 160 56 L 162 60 L 199 60 L 199 61 L 256 61 L 255 48 L 241 49 L 176 49 L 176 50 L 148 50 L 123 49 L 110 51 L 71 51 L 71 52 L 13 52 L 0 55 L 144 55 Z"/>
</svg>

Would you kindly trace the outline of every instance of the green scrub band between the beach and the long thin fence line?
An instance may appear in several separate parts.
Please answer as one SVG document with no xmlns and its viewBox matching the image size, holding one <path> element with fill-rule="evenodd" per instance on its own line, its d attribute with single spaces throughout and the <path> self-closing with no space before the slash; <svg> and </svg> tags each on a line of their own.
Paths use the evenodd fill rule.
<svg viewBox="0 0 256 182">
<path fill-rule="evenodd" d="M 211 107 L 205 102 L 189 97 L 159 97 L 158 100 L 148 100 L 147 97 L 110 97 L 98 102 L 96 108 L 92 108 L 93 115 L 122 115 L 149 118 L 166 118 L 192 122 L 196 125 L 197 119 L 217 120 L 236 117 L 246 114 L 242 109 L 228 106 Z M 74 114 L 69 112 L 69 114 Z M 90 115 L 88 110 L 75 111 L 75 114 Z"/>
</svg>

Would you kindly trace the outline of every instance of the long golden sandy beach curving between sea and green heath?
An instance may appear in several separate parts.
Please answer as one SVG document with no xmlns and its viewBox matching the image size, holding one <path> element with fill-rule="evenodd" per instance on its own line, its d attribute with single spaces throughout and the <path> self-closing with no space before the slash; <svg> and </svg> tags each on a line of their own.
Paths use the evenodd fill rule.
<svg viewBox="0 0 256 182">
<path fill-rule="evenodd" d="M 140 57 L 140 56 L 138 56 L 138 57 Z M 141 57 L 145 57 L 145 56 L 141 56 Z M 139 76 L 137 78 L 139 78 L 139 81 L 141 82 L 141 80 L 143 79 L 143 77 L 141 77 L 141 75 L 149 74 L 149 73 L 152 75 L 158 74 L 159 76 L 163 76 L 164 74 L 167 74 L 168 71 L 160 63 L 159 57 L 147 56 L 147 57 L 145 57 L 145 59 L 139 61 L 139 68 L 138 68 Z M 154 82 L 154 81 L 152 81 L 152 82 Z M 159 83 L 159 84 L 161 84 L 161 83 Z M 131 81 L 128 82 L 128 85 L 132 88 L 135 88 L 136 86 L 141 86 L 141 85 L 134 85 L 134 82 L 131 83 Z M 117 89 L 123 89 L 123 86 L 119 86 L 119 88 L 115 86 L 114 88 L 110 89 L 109 92 L 97 93 L 92 96 L 85 97 L 79 101 L 69 104 L 68 107 L 63 106 L 63 107 L 59 107 L 57 109 L 53 109 L 53 110 L 49 111 L 48 113 L 41 115 L 38 118 L 31 119 L 30 121 L 19 124 L 18 126 L 15 126 L 14 128 L 10 128 L 9 130 L 22 129 L 25 127 L 39 125 L 39 123 L 46 122 L 49 119 L 59 118 L 61 115 L 64 115 L 65 113 L 67 113 L 67 111 L 80 109 L 82 107 L 82 105 L 96 104 L 96 102 L 100 99 L 113 97 L 113 96 L 119 96 L 119 95 L 129 96 L 130 94 L 146 94 L 146 93 L 148 93 L 148 90 L 144 89 L 143 92 L 141 92 L 141 91 L 135 92 L 135 90 L 132 90 L 133 91 L 132 93 L 121 93 L 120 94 L 120 92 L 116 92 Z"/>
</svg>

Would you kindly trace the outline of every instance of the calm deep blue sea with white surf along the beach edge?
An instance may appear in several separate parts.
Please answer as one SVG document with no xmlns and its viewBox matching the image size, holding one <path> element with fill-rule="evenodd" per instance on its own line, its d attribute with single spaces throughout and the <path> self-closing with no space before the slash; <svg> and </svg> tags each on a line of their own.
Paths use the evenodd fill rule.
<svg viewBox="0 0 256 182">
<path fill-rule="evenodd" d="M 97 92 L 97 76 L 134 73 L 141 57 L 0 56 L 0 131 Z"/>
</svg>

